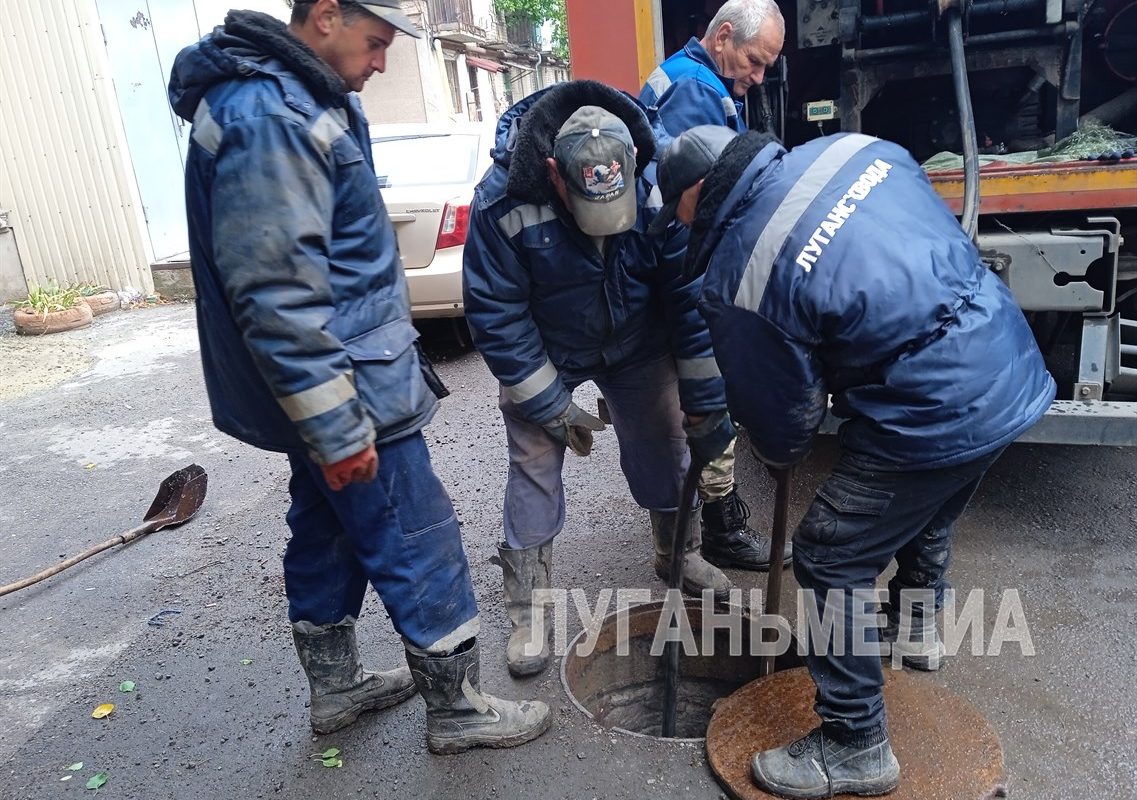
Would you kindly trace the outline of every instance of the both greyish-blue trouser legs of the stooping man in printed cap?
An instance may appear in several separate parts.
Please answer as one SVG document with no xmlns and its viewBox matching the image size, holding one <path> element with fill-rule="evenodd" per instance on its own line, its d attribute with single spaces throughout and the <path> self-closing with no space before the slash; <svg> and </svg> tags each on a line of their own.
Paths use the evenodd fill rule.
<svg viewBox="0 0 1137 800">
<path fill-rule="evenodd" d="M 592 381 L 612 415 L 620 468 L 632 498 L 642 508 L 674 511 L 690 464 L 674 359 L 669 355 L 611 369 Z M 504 390 L 499 405 L 509 443 L 505 541 L 513 549 L 536 548 L 551 541 L 565 524 L 561 477 L 565 445 L 521 416 Z"/>
</svg>

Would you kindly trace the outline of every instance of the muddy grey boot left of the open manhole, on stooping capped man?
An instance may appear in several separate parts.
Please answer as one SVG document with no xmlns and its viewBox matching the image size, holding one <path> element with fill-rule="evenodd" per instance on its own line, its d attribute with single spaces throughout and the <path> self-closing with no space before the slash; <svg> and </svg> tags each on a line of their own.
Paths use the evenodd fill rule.
<svg viewBox="0 0 1137 800">
<path fill-rule="evenodd" d="M 533 592 L 550 588 L 553 543 L 513 550 L 498 545 L 498 558 L 505 588 L 505 608 L 509 614 L 509 643 L 505 660 L 514 677 L 536 675 L 549 664 L 549 620 L 545 609 L 538 612 L 540 631 L 533 631 Z M 540 642 L 540 648 L 537 643 Z"/>
</svg>

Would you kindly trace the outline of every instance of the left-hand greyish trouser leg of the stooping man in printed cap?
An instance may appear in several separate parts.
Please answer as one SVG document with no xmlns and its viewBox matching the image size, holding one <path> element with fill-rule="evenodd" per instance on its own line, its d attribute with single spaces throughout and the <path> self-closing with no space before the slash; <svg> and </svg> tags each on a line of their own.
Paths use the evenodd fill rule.
<svg viewBox="0 0 1137 800">
<path fill-rule="evenodd" d="M 515 550 L 545 544 L 565 525 L 565 489 L 561 478 L 565 445 L 522 417 L 503 389 L 498 398 L 509 445 L 503 527 Z"/>
</svg>

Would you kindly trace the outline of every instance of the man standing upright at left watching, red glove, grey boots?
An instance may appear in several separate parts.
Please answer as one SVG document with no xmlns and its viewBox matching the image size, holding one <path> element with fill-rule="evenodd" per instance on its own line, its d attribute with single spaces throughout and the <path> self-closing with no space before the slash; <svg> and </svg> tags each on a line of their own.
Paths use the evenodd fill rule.
<svg viewBox="0 0 1137 800">
<path fill-rule="evenodd" d="M 470 568 L 422 435 L 440 384 L 352 93 L 397 30 L 418 35 L 398 0 L 298 0 L 288 26 L 231 11 L 175 60 L 201 363 L 217 427 L 292 468 L 284 591 L 313 730 L 417 689 L 432 751 L 512 747 L 550 717 L 480 691 Z M 363 668 L 368 582 L 409 668 Z"/>
</svg>

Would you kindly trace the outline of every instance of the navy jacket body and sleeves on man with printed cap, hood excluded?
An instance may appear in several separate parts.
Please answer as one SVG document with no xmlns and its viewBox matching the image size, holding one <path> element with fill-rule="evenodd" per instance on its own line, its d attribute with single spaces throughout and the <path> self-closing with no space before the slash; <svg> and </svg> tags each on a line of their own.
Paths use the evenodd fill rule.
<svg viewBox="0 0 1137 800">
<path fill-rule="evenodd" d="M 662 205 L 657 191 L 637 181 L 636 224 L 607 236 L 603 255 L 559 200 L 537 205 L 507 193 L 512 133 L 540 97 L 501 117 L 495 164 L 474 192 L 463 277 L 475 345 L 507 397 L 538 424 L 563 411 L 584 381 L 667 352 L 683 410 L 724 409 L 696 308 L 700 281 L 682 277 L 686 231 L 672 228 L 661 240 L 646 232 Z M 543 173 L 546 165 L 534 159 L 531 168 Z"/>
</svg>

